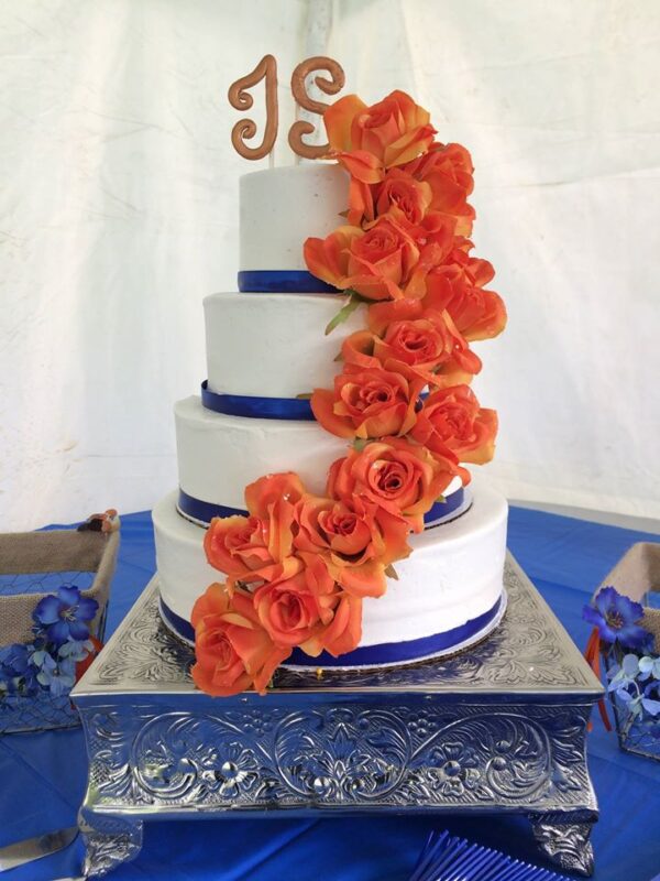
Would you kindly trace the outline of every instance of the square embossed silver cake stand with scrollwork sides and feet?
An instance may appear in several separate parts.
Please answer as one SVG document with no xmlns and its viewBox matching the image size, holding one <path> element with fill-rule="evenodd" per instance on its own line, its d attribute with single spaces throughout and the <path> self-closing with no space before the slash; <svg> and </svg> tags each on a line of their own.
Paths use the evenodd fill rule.
<svg viewBox="0 0 660 881">
<path fill-rule="evenodd" d="M 509 556 L 499 628 L 395 670 L 279 671 L 266 697 L 211 698 L 145 588 L 74 692 L 89 752 L 84 872 L 133 859 L 145 820 L 521 813 L 539 848 L 591 874 L 585 733 L 602 686 Z"/>
</svg>

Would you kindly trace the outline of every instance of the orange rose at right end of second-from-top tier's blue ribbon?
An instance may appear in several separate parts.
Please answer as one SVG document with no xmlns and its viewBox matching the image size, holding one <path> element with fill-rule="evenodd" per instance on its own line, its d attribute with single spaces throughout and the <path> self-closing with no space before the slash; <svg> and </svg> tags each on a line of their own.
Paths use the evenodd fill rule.
<svg viewBox="0 0 660 881">
<path fill-rule="evenodd" d="M 338 437 L 384 437 L 407 434 L 422 380 L 370 368 L 349 370 L 334 378 L 334 390 L 316 389 L 311 410 L 323 428 Z"/>
</svg>

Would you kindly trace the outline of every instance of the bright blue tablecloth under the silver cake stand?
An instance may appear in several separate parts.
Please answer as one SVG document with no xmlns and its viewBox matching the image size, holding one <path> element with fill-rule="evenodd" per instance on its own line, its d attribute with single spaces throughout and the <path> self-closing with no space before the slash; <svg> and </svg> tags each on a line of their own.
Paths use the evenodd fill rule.
<svg viewBox="0 0 660 881">
<path fill-rule="evenodd" d="M 583 603 L 637 541 L 657 536 L 571 518 L 512 509 L 509 547 L 578 645 Z M 122 518 L 122 546 L 110 610 L 113 630 L 154 572 L 147 513 Z M 596 881 L 650 881 L 660 872 L 660 762 L 619 751 L 596 718 L 590 768 L 601 805 L 593 841 Z M 0 737 L 0 847 L 75 823 L 87 760 L 79 729 Z M 145 825 L 139 859 L 117 881 L 404 881 L 433 828 L 537 861 L 521 817 L 373 817 L 320 820 L 223 819 Z M 80 845 L 2 874 L 53 881 L 79 871 Z"/>
</svg>

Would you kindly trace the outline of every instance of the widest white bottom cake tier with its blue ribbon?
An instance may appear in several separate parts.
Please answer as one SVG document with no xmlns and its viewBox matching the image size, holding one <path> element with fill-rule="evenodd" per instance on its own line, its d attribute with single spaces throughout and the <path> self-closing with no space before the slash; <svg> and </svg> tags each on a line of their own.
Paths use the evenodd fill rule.
<svg viewBox="0 0 660 881">
<path fill-rule="evenodd" d="M 205 530 L 176 510 L 177 493 L 153 511 L 161 611 L 165 623 L 190 642 L 195 600 L 222 574 L 204 553 Z M 469 511 L 410 537 L 413 554 L 396 564 L 387 592 L 365 599 L 359 646 L 340 657 L 310 657 L 295 650 L 286 666 L 373 667 L 450 654 L 487 635 L 504 613 L 506 500 L 477 486 Z"/>
</svg>

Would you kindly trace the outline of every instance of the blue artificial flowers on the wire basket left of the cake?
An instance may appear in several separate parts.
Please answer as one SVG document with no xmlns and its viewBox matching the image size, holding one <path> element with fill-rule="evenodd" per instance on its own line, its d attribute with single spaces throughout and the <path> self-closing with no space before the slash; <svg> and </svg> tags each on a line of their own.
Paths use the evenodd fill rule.
<svg viewBox="0 0 660 881">
<path fill-rule="evenodd" d="M 40 692 L 68 694 L 76 665 L 95 651 L 90 626 L 98 608 L 73 585 L 41 599 L 32 613 L 34 640 L 0 648 L 0 701 Z"/>
</svg>

